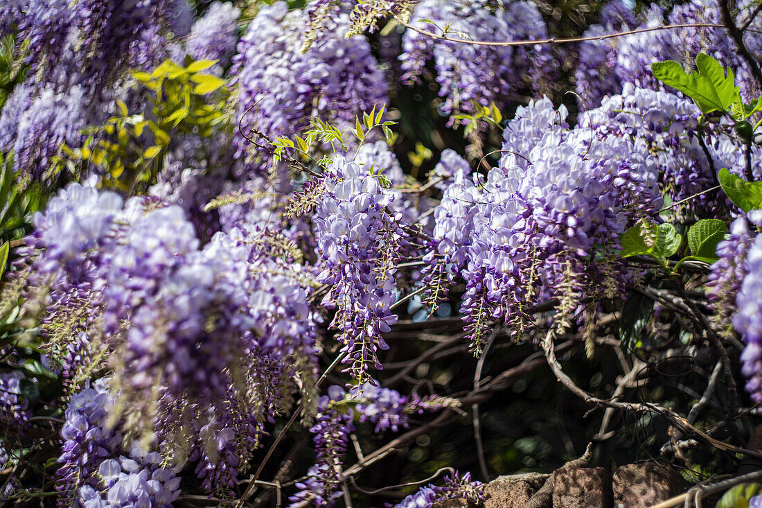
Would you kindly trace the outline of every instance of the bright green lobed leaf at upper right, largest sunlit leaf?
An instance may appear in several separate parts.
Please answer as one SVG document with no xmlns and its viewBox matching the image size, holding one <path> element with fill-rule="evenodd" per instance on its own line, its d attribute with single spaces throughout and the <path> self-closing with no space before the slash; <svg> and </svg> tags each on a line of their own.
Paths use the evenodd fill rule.
<svg viewBox="0 0 762 508">
<path fill-rule="evenodd" d="M 674 60 L 652 63 L 651 72 L 656 79 L 693 98 L 703 113 L 728 111 L 738 99 L 740 87 L 735 86 L 732 69 L 725 70 L 716 59 L 706 53 L 696 56 L 696 70 L 690 75 Z"/>
</svg>

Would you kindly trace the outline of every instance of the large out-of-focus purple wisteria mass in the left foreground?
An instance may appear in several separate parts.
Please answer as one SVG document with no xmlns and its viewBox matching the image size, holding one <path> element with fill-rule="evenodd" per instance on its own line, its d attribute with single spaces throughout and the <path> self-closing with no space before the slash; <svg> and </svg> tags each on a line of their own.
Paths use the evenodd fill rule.
<svg viewBox="0 0 762 508">
<path fill-rule="evenodd" d="M 316 337 L 299 265 L 242 233 L 219 233 L 199 250 L 179 207 L 144 198 L 121 207 L 115 195 L 81 185 L 62 191 L 36 223 L 41 268 L 103 288 L 121 391 L 110 418 L 126 410 L 129 432 L 155 425 L 171 442 L 192 416 L 201 424 L 182 432 L 207 442 L 235 429 L 243 447 L 235 451 L 247 450 L 240 458 L 284 386 L 298 379 L 312 397 Z"/>
</svg>

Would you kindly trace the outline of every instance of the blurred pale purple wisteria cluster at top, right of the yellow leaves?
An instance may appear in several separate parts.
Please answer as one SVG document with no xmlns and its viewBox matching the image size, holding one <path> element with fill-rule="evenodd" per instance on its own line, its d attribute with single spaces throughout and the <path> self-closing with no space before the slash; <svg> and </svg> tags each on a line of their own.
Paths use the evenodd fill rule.
<svg viewBox="0 0 762 508">
<path fill-rule="evenodd" d="M 306 12 L 276 2 L 258 11 L 240 40 L 231 74 L 239 86 L 236 117 L 247 135 L 254 128 L 271 140 L 293 137 L 314 117 L 347 130 L 357 114 L 386 104 L 384 74 L 370 45 L 364 37 L 344 37 L 349 15 L 327 20 L 326 36 L 303 53 L 306 23 Z M 269 169 L 267 154 L 248 153 L 253 147 L 240 136 L 235 143 L 242 159 L 259 155 Z"/>
</svg>

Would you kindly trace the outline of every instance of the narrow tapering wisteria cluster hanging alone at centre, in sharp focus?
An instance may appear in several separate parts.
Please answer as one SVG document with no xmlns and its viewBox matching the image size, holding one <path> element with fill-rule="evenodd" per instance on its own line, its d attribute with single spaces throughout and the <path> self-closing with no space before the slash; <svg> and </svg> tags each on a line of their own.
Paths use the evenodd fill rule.
<svg viewBox="0 0 762 508">
<path fill-rule="evenodd" d="M 335 309 L 331 326 L 339 330 L 344 362 L 364 382 L 368 368 L 381 368 L 378 349 L 387 349 L 382 334 L 397 321 L 396 258 L 405 243 L 402 214 L 389 211 L 395 195 L 379 178 L 339 156 L 321 184 L 325 195 L 315 209 L 315 240 L 320 256 L 318 281 L 331 285 L 322 300 Z"/>
</svg>

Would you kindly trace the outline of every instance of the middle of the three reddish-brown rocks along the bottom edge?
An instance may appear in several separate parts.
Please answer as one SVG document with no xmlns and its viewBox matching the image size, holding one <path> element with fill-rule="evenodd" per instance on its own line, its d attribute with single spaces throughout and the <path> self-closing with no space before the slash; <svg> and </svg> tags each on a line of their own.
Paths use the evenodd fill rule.
<svg viewBox="0 0 762 508">
<path fill-rule="evenodd" d="M 556 470 L 553 508 L 612 508 L 611 475 L 604 468 Z"/>
</svg>

